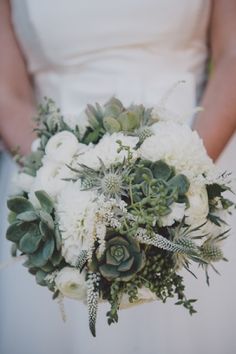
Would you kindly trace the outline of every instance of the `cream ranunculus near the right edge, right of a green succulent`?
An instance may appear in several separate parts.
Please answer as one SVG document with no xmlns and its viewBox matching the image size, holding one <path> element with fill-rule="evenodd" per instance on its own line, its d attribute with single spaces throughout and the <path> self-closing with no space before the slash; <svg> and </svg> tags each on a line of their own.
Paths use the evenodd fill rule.
<svg viewBox="0 0 236 354">
<path fill-rule="evenodd" d="M 206 187 L 204 185 L 190 184 L 187 197 L 190 206 L 185 210 L 186 223 L 189 225 L 204 223 L 209 213 Z"/>
</svg>

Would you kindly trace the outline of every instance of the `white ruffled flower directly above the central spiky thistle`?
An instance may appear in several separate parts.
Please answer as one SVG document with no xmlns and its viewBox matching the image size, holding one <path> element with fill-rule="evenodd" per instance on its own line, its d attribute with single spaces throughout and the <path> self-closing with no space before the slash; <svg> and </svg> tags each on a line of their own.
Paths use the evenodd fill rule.
<svg viewBox="0 0 236 354">
<path fill-rule="evenodd" d="M 132 149 L 138 143 L 137 137 L 125 136 L 122 133 L 106 134 L 93 149 L 89 149 L 79 157 L 79 162 L 88 167 L 98 170 L 100 168 L 99 158 L 107 168 L 112 164 L 122 162 L 124 157 L 127 157 L 127 152 L 117 152 L 119 145 L 117 140 L 120 140 L 123 145 L 129 146 Z M 136 151 L 133 150 L 134 159 L 137 158 Z"/>
</svg>

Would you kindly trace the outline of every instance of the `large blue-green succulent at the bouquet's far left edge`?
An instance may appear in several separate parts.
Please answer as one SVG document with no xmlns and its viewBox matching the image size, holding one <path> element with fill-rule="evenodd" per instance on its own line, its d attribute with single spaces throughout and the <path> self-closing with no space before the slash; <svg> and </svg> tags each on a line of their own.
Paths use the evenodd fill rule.
<svg viewBox="0 0 236 354">
<path fill-rule="evenodd" d="M 15 249 L 28 255 L 25 266 L 36 276 L 40 285 L 48 285 L 45 277 L 63 261 L 61 256 L 61 235 L 54 222 L 54 207 L 51 198 L 44 191 L 35 192 L 40 209 L 35 209 L 22 196 L 8 200 L 11 224 L 7 229 L 7 239 Z M 52 289 L 51 289 L 52 290 Z"/>
</svg>

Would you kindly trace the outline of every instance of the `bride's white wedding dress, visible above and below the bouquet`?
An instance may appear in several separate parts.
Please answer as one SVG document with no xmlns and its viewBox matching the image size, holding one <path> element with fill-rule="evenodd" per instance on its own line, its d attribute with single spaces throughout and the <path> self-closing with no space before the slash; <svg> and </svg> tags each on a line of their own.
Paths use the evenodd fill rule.
<svg viewBox="0 0 236 354">
<path fill-rule="evenodd" d="M 48 96 L 68 117 L 87 103 L 116 95 L 124 103 L 153 106 L 179 80 L 167 108 L 187 116 L 199 102 L 206 80 L 210 0 L 12 0 L 12 21 L 40 101 Z M 235 140 L 221 162 L 228 169 Z M 1 159 L 1 259 L 9 190 L 9 157 Z M 235 171 L 236 172 L 236 171 Z M 3 176 L 5 175 L 5 177 Z M 233 236 L 233 235 L 232 235 Z M 199 298 L 199 313 L 156 302 L 120 312 L 108 326 L 101 305 L 97 338 L 88 330 L 87 309 L 66 301 L 67 323 L 46 288 L 15 264 L 1 274 L 1 354 L 234 354 L 236 341 L 233 237 L 205 285 L 185 274 L 188 295 Z"/>
</svg>

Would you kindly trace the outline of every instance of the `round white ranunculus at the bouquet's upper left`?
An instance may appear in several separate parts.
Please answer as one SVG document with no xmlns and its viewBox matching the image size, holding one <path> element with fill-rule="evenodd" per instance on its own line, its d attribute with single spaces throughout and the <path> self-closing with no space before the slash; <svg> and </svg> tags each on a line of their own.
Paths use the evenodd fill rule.
<svg viewBox="0 0 236 354">
<path fill-rule="evenodd" d="M 62 131 L 48 140 L 45 154 L 52 161 L 68 163 L 73 155 L 78 152 L 78 149 L 79 142 L 76 136 L 68 131 Z"/>
</svg>

